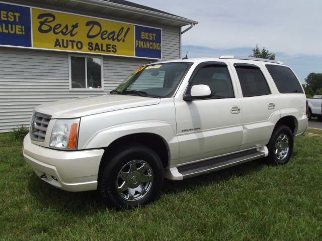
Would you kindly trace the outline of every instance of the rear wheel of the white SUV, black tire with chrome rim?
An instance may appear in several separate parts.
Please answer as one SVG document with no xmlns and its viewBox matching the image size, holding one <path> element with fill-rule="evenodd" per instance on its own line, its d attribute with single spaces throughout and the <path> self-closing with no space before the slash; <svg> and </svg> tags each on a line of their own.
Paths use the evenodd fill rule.
<svg viewBox="0 0 322 241">
<path fill-rule="evenodd" d="M 292 156 L 293 143 L 293 133 L 288 126 L 276 127 L 267 145 L 267 160 L 275 165 L 286 164 Z"/>
</svg>

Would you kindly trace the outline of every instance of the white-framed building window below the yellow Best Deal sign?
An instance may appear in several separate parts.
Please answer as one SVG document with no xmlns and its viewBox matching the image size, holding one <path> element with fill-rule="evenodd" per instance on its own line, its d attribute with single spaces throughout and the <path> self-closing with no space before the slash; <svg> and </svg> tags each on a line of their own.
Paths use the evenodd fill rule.
<svg viewBox="0 0 322 241">
<path fill-rule="evenodd" d="M 103 58 L 69 55 L 71 90 L 103 90 Z"/>
</svg>

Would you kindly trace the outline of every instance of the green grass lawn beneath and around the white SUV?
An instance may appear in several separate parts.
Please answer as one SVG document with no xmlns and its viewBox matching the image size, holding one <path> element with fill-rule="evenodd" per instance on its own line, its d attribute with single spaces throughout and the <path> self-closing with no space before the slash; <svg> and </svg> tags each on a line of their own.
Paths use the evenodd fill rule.
<svg viewBox="0 0 322 241">
<path fill-rule="evenodd" d="M 322 131 L 295 139 L 287 165 L 256 160 L 184 181 L 133 210 L 41 181 L 22 143 L 0 135 L 0 240 L 321 240 Z"/>
</svg>

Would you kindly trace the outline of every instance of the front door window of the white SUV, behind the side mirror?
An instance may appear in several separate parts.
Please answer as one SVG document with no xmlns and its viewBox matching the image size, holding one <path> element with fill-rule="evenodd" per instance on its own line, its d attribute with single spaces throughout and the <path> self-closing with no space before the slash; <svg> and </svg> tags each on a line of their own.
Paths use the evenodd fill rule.
<svg viewBox="0 0 322 241">
<path fill-rule="evenodd" d="M 214 99 L 235 97 L 226 66 L 206 65 L 202 67 L 192 80 L 192 85 L 197 84 L 208 85 Z"/>
</svg>

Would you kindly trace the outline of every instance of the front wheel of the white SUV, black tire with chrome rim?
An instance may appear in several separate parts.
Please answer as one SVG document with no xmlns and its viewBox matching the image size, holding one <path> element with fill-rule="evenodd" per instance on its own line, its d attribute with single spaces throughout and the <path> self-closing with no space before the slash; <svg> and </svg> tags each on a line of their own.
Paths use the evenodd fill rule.
<svg viewBox="0 0 322 241">
<path fill-rule="evenodd" d="M 135 207 L 153 201 L 162 182 L 159 156 L 149 147 L 130 144 L 108 160 L 98 189 L 107 205 Z"/>
</svg>

